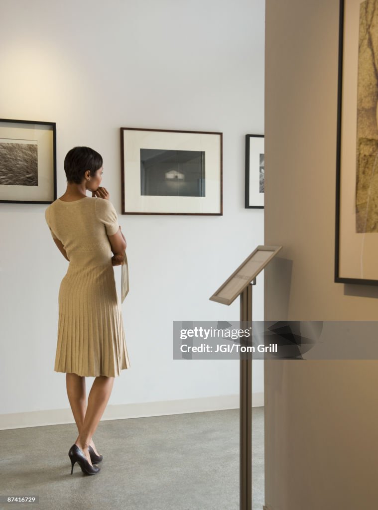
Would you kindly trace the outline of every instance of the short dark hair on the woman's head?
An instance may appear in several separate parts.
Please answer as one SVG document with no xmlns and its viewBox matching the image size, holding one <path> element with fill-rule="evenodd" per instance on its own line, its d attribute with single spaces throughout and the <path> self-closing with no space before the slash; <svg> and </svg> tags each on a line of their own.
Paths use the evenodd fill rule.
<svg viewBox="0 0 378 510">
<path fill-rule="evenodd" d="M 69 183 L 80 184 L 87 170 L 93 175 L 102 166 L 102 156 L 90 147 L 73 147 L 64 158 L 64 171 Z"/>
</svg>

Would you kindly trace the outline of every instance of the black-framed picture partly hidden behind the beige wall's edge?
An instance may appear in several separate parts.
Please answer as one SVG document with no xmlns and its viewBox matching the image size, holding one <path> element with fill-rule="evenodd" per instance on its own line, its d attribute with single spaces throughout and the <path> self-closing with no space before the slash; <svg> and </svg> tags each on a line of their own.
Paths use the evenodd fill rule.
<svg viewBox="0 0 378 510">
<path fill-rule="evenodd" d="M 264 208 L 264 135 L 245 135 L 245 209 Z"/>
</svg>

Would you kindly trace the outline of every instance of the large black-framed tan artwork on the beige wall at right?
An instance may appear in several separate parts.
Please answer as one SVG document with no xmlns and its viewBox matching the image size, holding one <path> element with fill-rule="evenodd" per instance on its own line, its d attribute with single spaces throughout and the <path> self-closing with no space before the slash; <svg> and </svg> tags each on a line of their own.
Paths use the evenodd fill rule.
<svg viewBox="0 0 378 510">
<path fill-rule="evenodd" d="M 340 2 L 335 282 L 378 285 L 378 0 Z"/>
</svg>

